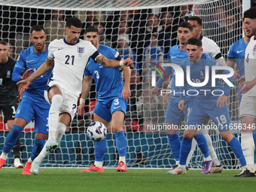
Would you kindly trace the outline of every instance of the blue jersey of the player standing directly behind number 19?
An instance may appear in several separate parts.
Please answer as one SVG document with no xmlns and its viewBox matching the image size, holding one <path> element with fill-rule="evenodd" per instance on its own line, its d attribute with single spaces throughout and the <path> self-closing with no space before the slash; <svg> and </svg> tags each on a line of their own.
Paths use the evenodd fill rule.
<svg viewBox="0 0 256 192">
<path fill-rule="evenodd" d="M 169 49 L 169 52 L 167 55 L 167 62 L 174 63 L 174 64 L 177 64 L 178 66 L 181 66 L 181 62 L 183 62 L 184 59 L 187 59 L 187 58 L 188 58 L 187 50 L 179 50 L 179 45 L 176 45 Z M 166 72 L 167 78 L 169 77 L 169 75 L 172 75 L 171 96 L 175 97 L 176 99 L 179 99 L 178 94 L 175 94 L 175 95 L 173 94 L 174 91 L 175 93 L 179 92 L 179 87 L 175 86 L 175 70 L 172 69 L 172 67 L 165 67 L 164 71 Z M 160 78 L 157 81 L 156 86 L 160 87 L 160 85 L 163 84 L 164 81 L 166 81 L 165 75 L 163 75 L 163 79 Z"/>
</svg>

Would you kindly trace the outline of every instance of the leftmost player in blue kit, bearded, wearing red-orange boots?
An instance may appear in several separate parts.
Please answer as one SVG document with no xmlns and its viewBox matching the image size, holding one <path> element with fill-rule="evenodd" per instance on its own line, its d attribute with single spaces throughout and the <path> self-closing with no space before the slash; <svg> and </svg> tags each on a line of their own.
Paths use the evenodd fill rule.
<svg viewBox="0 0 256 192">
<path fill-rule="evenodd" d="M 14 66 L 12 75 L 13 81 L 26 79 L 32 70 L 38 69 L 45 62 L 48 56 L 48 45 L 45 44 L 46 35 L 43 26 L 33 26 L 31 29 L 30 41 L 33 46 L 20 52 L 20 56 Z M 20 75 L 23 69 L 26 69 L 26 74 Z M 29 70 L 30 69 L 30 70 Z M 45 139 L 47 139 L 47 117 L 50 109 L 50 104 L 44 99 L 44 89 L 47 81 L 50 78 L 51 71 L 32 82 L 29 89 L 23 92 L 23 98 L 17 108 L 15 114 L 14 126 L 11 132 L 5 139 L 5 145 L 0 157 L 0 169 L 5 165 L 8 154 L 14 147 L 18 136 L 23 131 L 27 123 L 35 117 L 35 142 L 32 148 L 31 157 L 23 169 L 23 175 L 32 175 L 30 166 L 35 157 L 38 156 L 41 149 L 44 147 Z"/>
</svg>

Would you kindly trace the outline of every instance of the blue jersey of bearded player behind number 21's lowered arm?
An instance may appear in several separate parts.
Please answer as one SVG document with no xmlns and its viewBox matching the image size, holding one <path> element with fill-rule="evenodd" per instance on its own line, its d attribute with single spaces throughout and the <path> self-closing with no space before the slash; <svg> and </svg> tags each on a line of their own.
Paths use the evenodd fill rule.
<svg viewBox="0 0 256 192">
<path fill-rule="evenodd" d="M 17 59 L 17 62 L 14 66 L 20 69 L 28 70 L 35 69 L 37 70 L 41 64 L 43 64 L 48 56 L 48 45 L 47 49 L 44 50 L 43 53 L 35 53 L 34 46 L 27 48 L 26 50 L 22 50 L 20 52 L 20 56 Z M 47 81 L 50 78 L 51 72 L 46 72 L 41 77 L 37 78 L 35 81 L 32 81 L 29 85 L 29 88 L 23 93 L 23 96 L 29 96 L 35 102 L 46 102 L 44 99 L 44 90 L 47 85 Z M 33 73 L 33 72 L 32 72 Z"/>
</svg>

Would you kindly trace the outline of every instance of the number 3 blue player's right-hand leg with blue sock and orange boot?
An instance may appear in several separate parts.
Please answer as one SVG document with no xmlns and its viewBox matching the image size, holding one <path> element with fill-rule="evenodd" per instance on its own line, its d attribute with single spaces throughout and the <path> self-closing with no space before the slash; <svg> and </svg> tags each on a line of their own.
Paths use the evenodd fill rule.
<svg viewBox="0 0 256 192">
<path fill-rule="evenodd" d="M 114 111 L 112 114 L 111 126 L 116 137 L 117 151 L 119 154 L 119 161 L 117 172 L 126 172 L 126 136 L 123 133 L 123 111 Z"/>
</svg>

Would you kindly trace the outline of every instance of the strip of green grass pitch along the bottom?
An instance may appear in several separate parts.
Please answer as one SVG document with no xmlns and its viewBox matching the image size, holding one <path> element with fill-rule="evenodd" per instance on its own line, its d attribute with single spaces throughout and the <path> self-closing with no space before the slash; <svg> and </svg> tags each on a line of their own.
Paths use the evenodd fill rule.
<svg viewBox="0 0 256 192">
<path fill-rule="evenodd" d="M 79 172 L 81 169 L 39 169 L 38 175 L 21 175 L 22 169 L 0 170 L 0 191 L 255 191 L 256 178 L 234 178 L 239 171 L 168 175 L 166 169 L 128 169 L 116 172 Z"/>
</svg>

